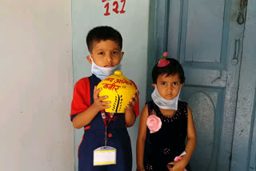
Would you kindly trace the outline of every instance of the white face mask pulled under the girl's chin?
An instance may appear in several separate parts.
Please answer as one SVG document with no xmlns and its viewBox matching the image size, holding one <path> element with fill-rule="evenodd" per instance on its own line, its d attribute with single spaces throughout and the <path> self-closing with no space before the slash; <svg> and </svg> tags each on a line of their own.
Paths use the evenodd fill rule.
<svg viewBox="0 0 256 171">
<path fill-rule="evenodd" d="M 171 100 L 166 100 L 164 97 L 160 95 L 158 92 L 158 87 L 155 85 L 154 92 L 151 93 L 152 100 L 160 109 L 178 109 L 178 97 L 179 93 L 181 93 L 182 87 L 179 89 L 178 95 Z"/>
</svg>

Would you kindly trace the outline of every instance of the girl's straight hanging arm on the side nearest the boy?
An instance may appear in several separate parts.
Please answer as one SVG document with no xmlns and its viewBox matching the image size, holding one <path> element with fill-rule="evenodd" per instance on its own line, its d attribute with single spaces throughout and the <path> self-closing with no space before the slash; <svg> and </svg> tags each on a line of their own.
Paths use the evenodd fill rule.
<svg viewBox="0 0 256 171">
<path fill-rule="evenodd" d="M 142 110 L 141 117 L 139 119 L 138 125 L 138 138 L 137 138 L 137 147 L 136 147 L 136 156 L 137 156 L 137 170 L 144 170 L 143 160 L 144 160 L 144 148 L 146 140 L 146 118 L 149 116 L 147 105 L 145 105 Z"/>
</svg>

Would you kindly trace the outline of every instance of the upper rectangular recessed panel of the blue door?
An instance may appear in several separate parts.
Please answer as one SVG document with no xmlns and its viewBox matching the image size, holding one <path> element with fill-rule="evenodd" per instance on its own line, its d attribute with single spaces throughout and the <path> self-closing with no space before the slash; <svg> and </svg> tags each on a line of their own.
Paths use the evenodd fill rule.
<svg viewBox="0 0 256 171">
<path fill-rule="evenodd" d="M 187 4 L 186 62 L 220 62 L 223 0 L 194 0 Z"/>
</svg>

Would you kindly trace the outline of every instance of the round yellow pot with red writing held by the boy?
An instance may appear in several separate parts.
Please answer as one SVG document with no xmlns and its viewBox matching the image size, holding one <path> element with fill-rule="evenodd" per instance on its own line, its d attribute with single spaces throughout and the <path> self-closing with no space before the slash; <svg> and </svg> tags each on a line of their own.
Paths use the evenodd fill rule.
<svg viewBox="0 0 256 171">
<path fill-rule="evenodd" d="M 116 70 L 113 75 L 102 80 L 97 89 L 102 88 L 99 97 L 108 96 L 104 101 L 110 101 L 110 108 L 105 109 L 108 113 L 125 113 L 126 106 L 131 97 L 136 93 L 133 82 L 122 75 L 122 71 Z"/>
</svg>

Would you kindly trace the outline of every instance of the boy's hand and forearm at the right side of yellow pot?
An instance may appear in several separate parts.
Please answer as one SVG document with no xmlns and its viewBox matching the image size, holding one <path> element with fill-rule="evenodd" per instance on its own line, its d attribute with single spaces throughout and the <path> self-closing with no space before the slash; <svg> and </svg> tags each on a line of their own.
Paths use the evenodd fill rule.
<svg viewBox="0 0 256 171">
<path fill-rule="evenodd" d="M 138 95 L 139 93 L 137 89 L 134 96 L 130 99 L 129 105 L 126 106 L 125 121 L 127 127 L 134 125 L 137 113 L 139 113 L 139 111 L 136 111 L 137 113 L 134 113 L 134 106 L 138 108 Z"/>
</svg>

